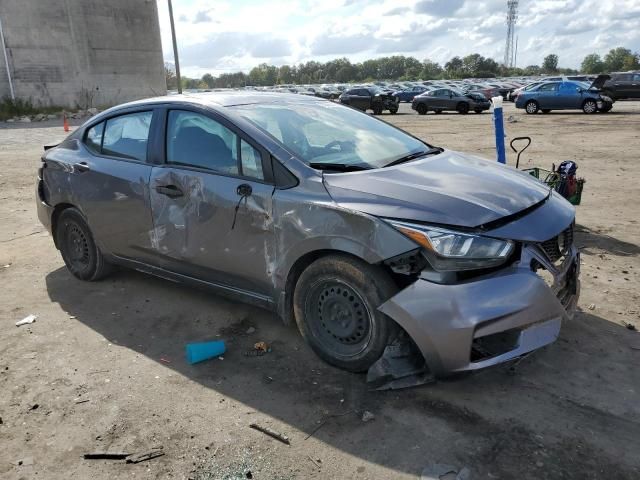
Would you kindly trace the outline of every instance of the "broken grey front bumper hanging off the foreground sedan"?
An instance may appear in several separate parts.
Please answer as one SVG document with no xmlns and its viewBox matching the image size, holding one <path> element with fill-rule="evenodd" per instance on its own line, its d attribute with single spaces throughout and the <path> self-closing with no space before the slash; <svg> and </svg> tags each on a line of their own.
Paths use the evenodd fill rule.
<svg viewBox="0 0 640 480">
<path fill-rule="evenodd" d="M 421 277 L 379 307 L 413 339 L 436 377 L 496 365 L 552 343 L 578 301 L 580 256 L 552 262 L 537 245 L 520 261 L 457 284 Z"/>
</svg>

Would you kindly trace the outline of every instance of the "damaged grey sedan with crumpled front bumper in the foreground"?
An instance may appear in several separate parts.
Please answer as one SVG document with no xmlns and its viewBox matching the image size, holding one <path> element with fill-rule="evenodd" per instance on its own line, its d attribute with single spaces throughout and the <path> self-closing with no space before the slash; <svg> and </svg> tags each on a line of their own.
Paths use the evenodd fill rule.
<svg viewBox="0 0 640 480">
<path fill-rule="evenodd" d="M 119 265 L 260 305 L 351 371 L 392 342 L 436 376 L 513 359 L 553 342 L 579 294 L 555 191 L 316 97 L 114 107 L 45 151 L 36 190 L 78 279 Z"/>
</svg>

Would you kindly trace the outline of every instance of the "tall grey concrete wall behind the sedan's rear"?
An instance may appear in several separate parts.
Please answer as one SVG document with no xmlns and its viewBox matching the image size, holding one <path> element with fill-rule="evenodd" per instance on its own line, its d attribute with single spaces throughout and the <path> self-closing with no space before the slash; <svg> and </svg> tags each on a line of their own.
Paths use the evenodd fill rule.
<svg viewBox="0 0 640 480">
<path fill-rule="evenodd" d="M 17 98 L 88 108 L 166 93 L 156 0 L 0 0 L 0 19 Z"/>
</svg>

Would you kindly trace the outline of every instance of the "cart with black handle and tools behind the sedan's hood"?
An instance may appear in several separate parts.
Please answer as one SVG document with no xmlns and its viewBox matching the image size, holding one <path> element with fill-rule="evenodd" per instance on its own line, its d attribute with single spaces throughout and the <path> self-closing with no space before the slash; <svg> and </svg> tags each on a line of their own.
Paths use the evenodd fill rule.
<svg viewBox="0 0 640 480">
<path fill-rule="evenodd" d="M 514 143 L 519 141 L 526 141 L 527 144 L 524 148 L 518 150 L 514 146 Z M 531 145 L 531 137 L 515 137 L 509 143 L 511 150 L 513 150 L 516 156 L 516 168 L 520 167 L 520 155 Z M 580 205 L 580 201 L 582 199 L 582 189 L 584 188 L 585 179 L 578 178 L 576 175 L 576 171 L 578 170 L 578 165 L 571 160 L 565 160 L 562 162 L 558 168 L 556 169 L 555 164 L 551 166 L 551 170 L 546 170 L 544 168 L 533 167 L 533 168 L 524 168 L 522 171 L 527 172 L 532 177 L 537 178 L 543 183 L 549 185 L 549 187 L 553 188 L 556 192 L 566 198 L 569 203 L 573 205 Z"/>
</svg>

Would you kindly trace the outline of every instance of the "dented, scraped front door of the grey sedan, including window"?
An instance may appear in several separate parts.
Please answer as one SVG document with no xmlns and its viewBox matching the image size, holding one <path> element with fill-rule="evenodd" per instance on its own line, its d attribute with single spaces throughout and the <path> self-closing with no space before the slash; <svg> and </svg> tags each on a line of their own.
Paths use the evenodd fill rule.
<svg viewBox="0 0 640 480">
<path fill-rule="evenodd" d="M 274 187 L 265 181 L 266 153 L 192 110 L 167 112 L 165 140 L 165 162 L 149 183 L 160 266 L 269 296 Z"/>
</svg>

